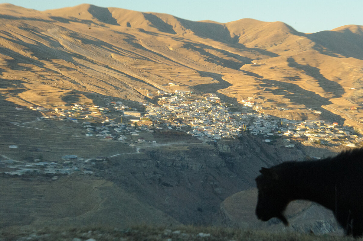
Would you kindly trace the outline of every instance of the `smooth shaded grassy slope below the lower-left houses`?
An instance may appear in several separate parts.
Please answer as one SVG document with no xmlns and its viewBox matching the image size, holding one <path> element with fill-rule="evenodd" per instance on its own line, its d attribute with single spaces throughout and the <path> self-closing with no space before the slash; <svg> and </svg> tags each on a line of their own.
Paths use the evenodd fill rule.
<svg viewBox="0 0 363 241">
<path fill-rule="evenodd" d="M 57 181 L 0 178 L 0 228 L 132 224 L 178 225 L 112 182 L 85 176 Z"/>
</svg>

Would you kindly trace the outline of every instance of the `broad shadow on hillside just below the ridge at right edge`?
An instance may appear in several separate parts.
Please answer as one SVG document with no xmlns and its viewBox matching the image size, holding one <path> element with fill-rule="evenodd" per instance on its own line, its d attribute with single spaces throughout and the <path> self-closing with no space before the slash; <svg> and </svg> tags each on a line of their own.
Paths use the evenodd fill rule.
<svg viewBox="0 0 363 241">
<path fill-rule="evenodd" d="M 317 43 L 314 49 L 321 54 L 363 60 L 363 36 L 345 29 L 344 32 L 322 31 L 306 34 L 306 37 Z"/>
</svg>

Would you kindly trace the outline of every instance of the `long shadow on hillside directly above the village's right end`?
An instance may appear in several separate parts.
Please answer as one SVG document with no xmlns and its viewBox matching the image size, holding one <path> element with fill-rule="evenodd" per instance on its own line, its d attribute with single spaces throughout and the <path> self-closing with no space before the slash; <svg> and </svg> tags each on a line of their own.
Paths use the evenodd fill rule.
<svg viewBox="0 0 363 241">
<path fill-rule="evenodd" d="M 261 87 L 265 88 L 268 92 L 274 95 L 282 95 L 290 99 L 293 103 L 305 105 L 307 108 L 315 109 L 322 112 L 322 116 L 326 119 L 334 120 L 335 122 L 343 123 L 344 119 L 339 115 L 335 115 L 326 109 L 322 108 L 322 105 L 332 104 L 329 99 L 321 97 L 315 94 L 313 91 L 304 90 L 297 84 L 286 83 L 271 79 L 261 79 Z M 292 92 L 292 93 L 289 93 Z"/>
</svg>

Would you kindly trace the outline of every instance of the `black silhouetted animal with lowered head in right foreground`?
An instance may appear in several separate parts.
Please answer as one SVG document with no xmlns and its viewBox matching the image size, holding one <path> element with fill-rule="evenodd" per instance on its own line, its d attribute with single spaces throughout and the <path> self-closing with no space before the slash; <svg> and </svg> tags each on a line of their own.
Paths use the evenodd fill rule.
<svg viewBox="0 0 363 241">
<path fill-rule="evenodd" d="M 334 212 L 347 235 L 363 235 L 363 148 L 318 161 L 283 162 L 260 170 L 256 216 L 279 218 L 290 201 L 310 200 Z"/>
</svg>

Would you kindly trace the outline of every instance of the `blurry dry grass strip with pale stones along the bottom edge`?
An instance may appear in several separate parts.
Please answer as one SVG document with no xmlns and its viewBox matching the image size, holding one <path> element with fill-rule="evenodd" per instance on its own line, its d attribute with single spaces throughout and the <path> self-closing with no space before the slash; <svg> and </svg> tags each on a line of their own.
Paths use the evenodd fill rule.
<svg viewBox="0 0 363 241">
<path fill-rule="evenodd" d="M 3 231 L 5 240 L 208 240 L 208 241 L 352 241 L 351 237 L 290 232 L 268 233 L 261 230 L 221 227 L 162 227 L 137 225 L 129 228 L 109 226 L 88 227 L 44 227 L 37 230 L 13 228 Z"/>
</svg>

